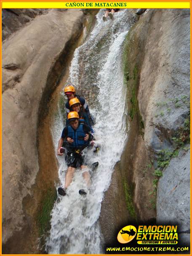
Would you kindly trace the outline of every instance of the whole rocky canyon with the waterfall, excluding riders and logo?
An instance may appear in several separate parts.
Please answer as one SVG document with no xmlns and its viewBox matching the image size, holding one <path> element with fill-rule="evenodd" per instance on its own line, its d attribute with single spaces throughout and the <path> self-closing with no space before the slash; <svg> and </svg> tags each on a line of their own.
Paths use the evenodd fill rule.
<svg viewBox="0 0 192 256">
<path fill-rule="evenodd" d="M 103 13 L 88 16 L 95 25 L 87 26 L 91 33 L 81 36 L 80 47 L 76 44 L 68 58 L 66 51 L 75 47 L 81 30 L 79 10 L 68 10 L 66 16 L 52 10 L 44 19 L 35 18 L 32 27 L 39 29 L 37 37 L 42 38 L 42 24 L 55 35 L 52 40 L 51 30 L 41 44 L 23 45 L 27 58 L 18 57 L 22 44 L 14 44 L 21 35 L 29 41 L 27 30 L 4 44 L 3 248 L 7 253 L 104 253 L 104 245 L 116 242 L 120 228 L 136 221 L 155 223 L 156 217 L 159 223 L 177 221 L 184 244 L 189 243 L 190 13 L 147 10 L 138 20 L 135 10 L 124 9 L 105 23 Z M 70 25 L 64 26 L 69 19 Z M 33 37 L 36 32 L 29 26 Z M 69 33 L 65 42 L 55 42 L 59 33 L 63 37 Z M 71 37 L 71 44 L 62 50 Z M 44 45 L 40 56 L 39 45 Z M 16 52 L 13 63 L 11 51 Z M 88 164 L 99 161 L 99 167 L 91 173 L 87 197 L 78 194 L 85 184 L 77 171 L 69 195 L 57 198 L 53 206 L 54 187 L 64 184 L 67 169 L 63 156 L 57 161 L 54 157 L 65 124 L 65 83 L 73 83 L 88 101 L 101 149 L 98 154 L 88 151 Z M 5 191 L 10 180 L 13 186 Z M 37 237 L 43 234 L 44 251 L 37 248 Z M 26 239 L 31 243 L 27 245 Z"/>
</svg>

